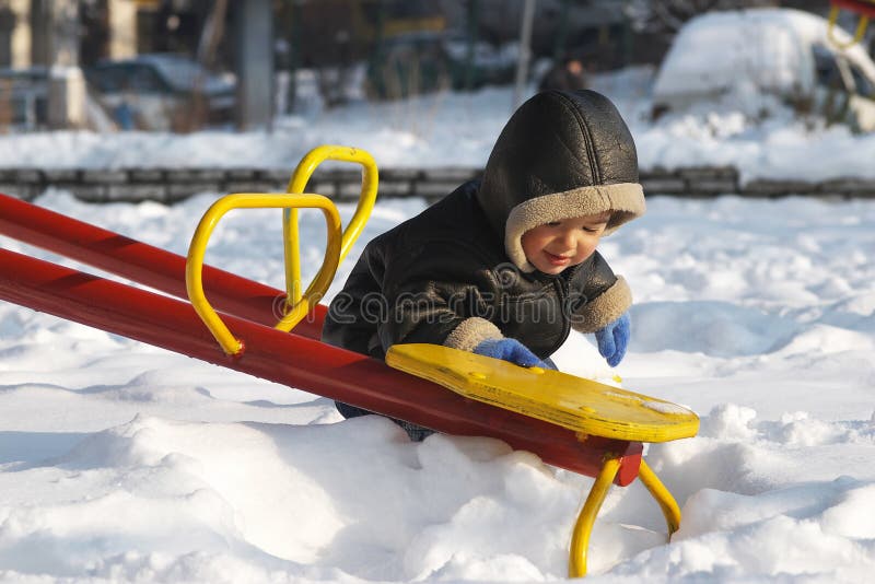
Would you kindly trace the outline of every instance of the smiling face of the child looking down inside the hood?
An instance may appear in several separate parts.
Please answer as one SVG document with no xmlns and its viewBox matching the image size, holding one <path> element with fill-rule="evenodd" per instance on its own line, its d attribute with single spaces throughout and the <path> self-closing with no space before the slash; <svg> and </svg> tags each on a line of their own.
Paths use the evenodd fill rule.
<svg viewBox="0 0 875 584">
<path fill-rule="evenodd" d="M 538 225 L 523 234 L 526 259 L 544 273 L 557 275 L 595 252 L 610 213 L 582 215 Z"/>
</svg>

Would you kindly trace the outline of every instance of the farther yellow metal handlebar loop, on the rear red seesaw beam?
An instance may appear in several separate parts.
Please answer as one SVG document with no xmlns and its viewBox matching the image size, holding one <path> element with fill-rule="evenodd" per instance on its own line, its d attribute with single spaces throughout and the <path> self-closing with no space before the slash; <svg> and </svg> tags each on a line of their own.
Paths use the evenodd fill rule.
<svg viewBox="0 0 875 584">
<path fill-rule="evenodd" d="M 376 189 L 378 183 L 378 175 L 374 157 L 364 150 L 357 148 L 325 144 L 314 148 L 301 160 L 295 167 L 292 178 L 289 180 L 287 191 L 289 194 L 303 192 L 304 188 L 320 163 L 327 161 L 342 161 L 354 162 L 362 165 L 362 190 L 359 197 L 359 206 L 355 208 L 347 229 L 343 230 L 343 235 L 340 245 L 339 261 L 343 261 L 352 244 L 361 235 L 368 218 L 371 217 L 371 211 L 376 201 Z M 283 212 L 283 242 L 285 253 L 285 290 L 288 293 L 288 303 L 292 306 L 296 305 L 301 300 L 301 260 L 299 250 L 298 237 L 298 212 L 294 208 L 289 208 Z"/>
</svg>

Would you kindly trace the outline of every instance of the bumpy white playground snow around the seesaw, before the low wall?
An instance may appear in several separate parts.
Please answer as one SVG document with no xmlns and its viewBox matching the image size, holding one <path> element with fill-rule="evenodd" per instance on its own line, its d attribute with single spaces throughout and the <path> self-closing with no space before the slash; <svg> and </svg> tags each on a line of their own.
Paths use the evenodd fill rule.
<svg viewBox="0 0 875 584">
<path fill-rule="evenodd" d="M 214 197 L 37 203 L 184 253 Z M 423 206 L 378 203 L 351 256 Z M 281 287 L 280 231 L 275 211 L 232 213 L 208 260 Z M 590 580 L 871 582 L 875 202 L 651 197 L 602 250 L 635 295 L 623 386 L 702 423 L 646 453 L 682 507 L 673 541 L 639 483 L 615 488 Z M 320 249 L 304 254 L 312 276 Z M 582 336 L 557 361 L 611 374 Z M 557 581 L 591 484 L 0 303 L 1 581 Z"/>
</svg>

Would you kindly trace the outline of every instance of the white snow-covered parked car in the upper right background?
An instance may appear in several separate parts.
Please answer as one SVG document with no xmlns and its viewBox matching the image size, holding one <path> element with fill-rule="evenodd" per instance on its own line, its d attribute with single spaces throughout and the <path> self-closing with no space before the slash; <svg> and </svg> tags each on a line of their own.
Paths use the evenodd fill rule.
<svg viewBox="0 0 875 584">
<path fill-rule="evenodd" d="M 732 105 L 754 116 L 784 103 L 828 124 L 875 131 L 875 62 L 835 47 L 825 19 L 792 9 L 709 12 L 679 31 L 653 86 L 653 117 Z M 851 37 L 833 31 L 842 43 Z"/>
</svg>

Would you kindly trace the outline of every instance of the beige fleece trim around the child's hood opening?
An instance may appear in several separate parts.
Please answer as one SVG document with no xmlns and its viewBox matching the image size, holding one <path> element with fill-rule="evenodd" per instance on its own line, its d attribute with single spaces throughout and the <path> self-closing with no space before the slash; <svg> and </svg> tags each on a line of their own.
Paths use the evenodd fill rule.
<svg viewBox="0 0 875 584">
<path fill-rule="evenodd" d="M 542 195 L 511 209 L 504 227 L 504 249 L 517 268 L 533 272 L 535 266 L 526 259 L 522 244 L 523 234 L 528 230 L 571 217 L 611 211 L 605 229 L 605 235 L 609 235 L 623 223 L 644 214 L 645 210 L 644 189 L 638 183 L 586 186 Z"/>
</svg>

